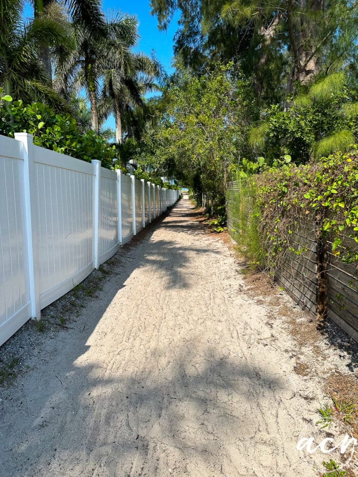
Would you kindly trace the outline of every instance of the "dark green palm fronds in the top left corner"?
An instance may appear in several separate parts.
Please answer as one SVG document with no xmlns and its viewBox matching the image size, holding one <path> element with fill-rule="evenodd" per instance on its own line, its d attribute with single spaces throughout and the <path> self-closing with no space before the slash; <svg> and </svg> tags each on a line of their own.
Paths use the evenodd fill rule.
<svg viewBox="0 0 358 477">
<path fill-rule="evenodd" d="M 23 2 L 0 0 L 0 83 L 5 93 L 24 102 L 34 100 L 66 110 L 44 75 L 39 60 L 39 45 L 63 42 L 57 23 L 50 18 L 35 18 L 24 24 Z"/>
</svg>

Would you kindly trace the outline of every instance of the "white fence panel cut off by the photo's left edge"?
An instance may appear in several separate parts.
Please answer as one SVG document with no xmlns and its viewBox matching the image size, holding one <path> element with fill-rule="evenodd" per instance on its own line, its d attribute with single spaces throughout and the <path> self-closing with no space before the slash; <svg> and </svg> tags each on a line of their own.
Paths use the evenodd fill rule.
<svg viewBox="0 0 358 477">
<path fill-rule="evenodd" d="M 30 316 L 21 143 L 1 138 L 0 345 Z"/>
</svg>

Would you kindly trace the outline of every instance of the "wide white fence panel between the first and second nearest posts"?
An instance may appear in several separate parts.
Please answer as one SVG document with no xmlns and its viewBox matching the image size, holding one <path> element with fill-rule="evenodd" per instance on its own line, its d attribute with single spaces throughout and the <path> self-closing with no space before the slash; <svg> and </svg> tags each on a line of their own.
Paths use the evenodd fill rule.
<svg viewBox="0 0 358 477">
<path fill-rule="evenodd" d="M 91 164 L 33 147 L 40 307 L 80 283 L 93 264 Z M 71 169 L 69 169 L 71 168 Z"/>
</svg>

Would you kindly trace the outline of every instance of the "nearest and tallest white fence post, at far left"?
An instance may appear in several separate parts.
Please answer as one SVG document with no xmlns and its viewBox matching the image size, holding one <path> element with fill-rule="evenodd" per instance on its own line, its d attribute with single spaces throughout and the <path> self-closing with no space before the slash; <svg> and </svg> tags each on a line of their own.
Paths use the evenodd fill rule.
<svg viewBox="0 0 358 477">
<path fill-rule="evenodd" d="M 32 135 L 26 132 L 15 132 L 15 139 L 23 143 L 23 200 L 25 212 L 25 230 L 26 230 L 26 258 L 28 264 L 29 294 L 31 303 L 31 317 L 40 320 L 40 289 L 38 275 L 38 254 L 37 247 L 37 228 L 35 218 L 37 217 L 34 201 L 31 200 L 31 190 L 34 187 L 34 162 L 33 162 L 33 143 Z"/>
</svg>

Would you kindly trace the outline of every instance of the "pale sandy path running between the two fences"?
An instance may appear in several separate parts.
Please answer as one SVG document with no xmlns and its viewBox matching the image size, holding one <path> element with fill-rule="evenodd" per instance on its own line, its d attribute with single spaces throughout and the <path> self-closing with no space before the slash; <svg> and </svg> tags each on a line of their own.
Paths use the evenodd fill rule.
<svg viewBox="0 0 358 477">
<path fill-rule="evenodd" d="M 182 200 L 124 247 L 0 403 L 0 475 L 314 475 L 296 443 L 315 383 L 195 215 Z"/>
</svg>

